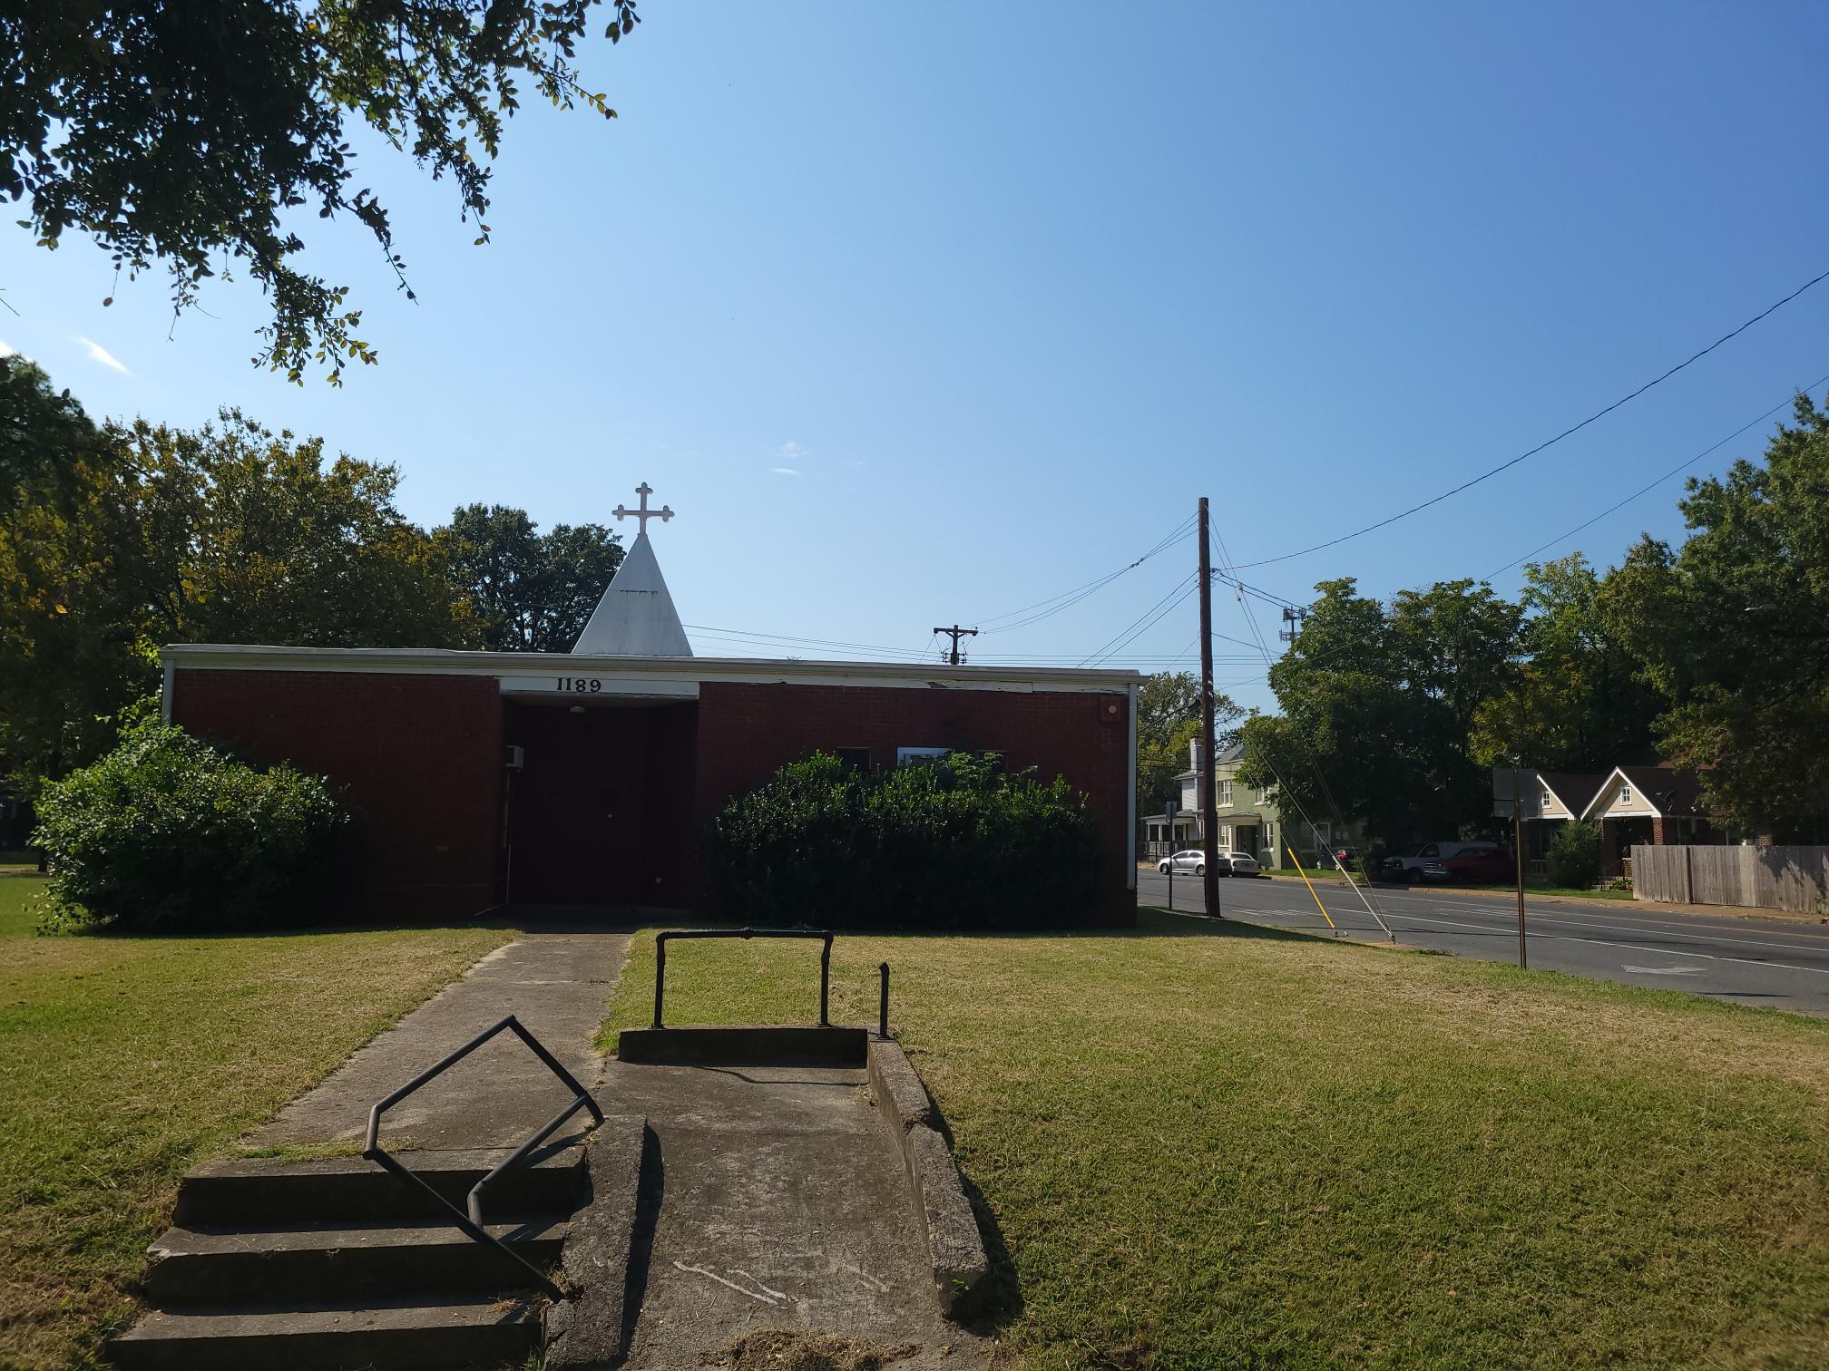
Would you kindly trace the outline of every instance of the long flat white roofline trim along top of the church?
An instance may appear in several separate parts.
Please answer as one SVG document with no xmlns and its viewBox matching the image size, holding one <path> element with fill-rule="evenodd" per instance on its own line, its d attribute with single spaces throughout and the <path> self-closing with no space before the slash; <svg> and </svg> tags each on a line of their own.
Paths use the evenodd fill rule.
<svg viewBox="0 0 1829 1371">
<path fill-rule="evenodd" d="M 924 686 L 933 689 L 1030 689 L 1125 693 L 1143 680 L 1112 667 L 1006 667 L 920 662 L 821 662 L 755 656 L 596 656 L 580 653 L 474 653 L 446 647 L 265 647 L 258 643 L 166 643 L 168 669 L 362 671 L 432 676 L 596 676 L 627 682 L 739 682 L 801 686 Z"/>
</svg>

